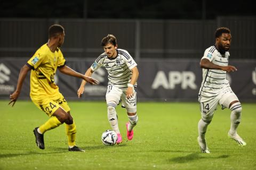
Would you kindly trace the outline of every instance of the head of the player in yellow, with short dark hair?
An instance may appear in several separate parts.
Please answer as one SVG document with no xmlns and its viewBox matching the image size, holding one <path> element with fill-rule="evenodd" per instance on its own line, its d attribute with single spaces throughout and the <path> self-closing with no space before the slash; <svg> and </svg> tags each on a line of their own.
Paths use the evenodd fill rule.
<svg viewBox="0 0 256 170">
<path fill-rule="evenodd" d="M 48 30 L 49 39 L 57 40 L 58 47 L 64 43 L 65 31 L 64 28 L 59 24 L 53 24 L 49 27 Z"/>
</svg>

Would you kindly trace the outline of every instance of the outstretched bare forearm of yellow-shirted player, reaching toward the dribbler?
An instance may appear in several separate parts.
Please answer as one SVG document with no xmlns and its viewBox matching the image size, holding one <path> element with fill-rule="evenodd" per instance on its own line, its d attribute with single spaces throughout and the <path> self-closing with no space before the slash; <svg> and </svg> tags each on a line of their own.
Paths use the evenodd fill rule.
<svg viewBox="0 0 256 170">
<path fill-rule="evenodd" d="M 84 81 L 89 82 L 90 84 L 98 84 L 99 83 L 98 80 L 95 80 L 91 77 L 88 77 L 88 76 L 85 76 L 81 73 L 78 73 L 78 72 L 74 71 L 73 69 L 71 69 L 70 67 L 68 67 L 66 65 L 62 66 L 62 67 L 59 67 L 58 69 L 63 74 L 67 74 L 67 75 L 71 75 L 73 77 L 81 78 Z"/>
</svg>

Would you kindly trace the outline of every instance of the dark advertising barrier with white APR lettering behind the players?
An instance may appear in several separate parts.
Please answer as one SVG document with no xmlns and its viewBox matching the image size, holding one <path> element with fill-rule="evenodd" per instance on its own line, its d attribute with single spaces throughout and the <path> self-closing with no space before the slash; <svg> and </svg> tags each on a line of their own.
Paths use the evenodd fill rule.
<svg viewBox="0 0 256 170">
<path fill-rule="evenodd" d="M 0 58 L 0 99 L 9 99 L 15 90 L 20 68 L 28 58 Z M 67 65 L 84 73 L 93 60 L 67 58 Z M 198 60 L 140 60 L 138 99 L 154 101 L 196 101 L 202 82 L 202 69 Z M 227 74 L 231 88 L 241 101 L 256 101 L 256 60 L 230 60 L 238 71 Z M 97 86 L 86 84 L 79 100 L 104 100 L 107 90 L 107 72 L 100 68 L 93 73 L 100 81 Z M 65 98 L 78 100 L 77 89 L 82 80 L 57 71 L 55 82 Z M 29 99 L 29 75 L 22 87 L 20 99 Z"/>
</svg>

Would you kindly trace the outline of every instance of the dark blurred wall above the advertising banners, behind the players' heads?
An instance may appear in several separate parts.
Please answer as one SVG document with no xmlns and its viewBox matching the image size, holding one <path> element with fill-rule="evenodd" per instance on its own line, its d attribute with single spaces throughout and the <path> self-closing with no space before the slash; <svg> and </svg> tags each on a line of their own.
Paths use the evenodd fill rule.
<svg viewBox="0 0 256 170">
<path fill-rule="evenodd" d="M 97 57 L 101 39 L 113 34 L 120 48 L 139 58 L 199 58 L 214 45 L 217 27 L 232 34 L 232 58 L 255 58 L 256 16 L 215 20 L 0 19 L 0 57 L 29 57 L 47 41 L 53 23 L 65 27 L 66 57 Z"/>
</svg>

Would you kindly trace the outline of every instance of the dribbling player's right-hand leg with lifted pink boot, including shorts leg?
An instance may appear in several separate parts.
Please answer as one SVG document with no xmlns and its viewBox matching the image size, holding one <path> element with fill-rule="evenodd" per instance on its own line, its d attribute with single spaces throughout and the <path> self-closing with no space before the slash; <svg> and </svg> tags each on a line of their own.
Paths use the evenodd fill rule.
<svg viewBox="0 0 256 170">
<path fill-rule="evenodd" d="M 126 123 L 126 135 L 128 140 L 133 138 L 133 128 L 137 125 L 138 115 L 137 115 L 137 92 L 133 90 L 133 97 L 131 99 L 126 98 L 126 90 L 123 90 L 122 103 L 127 111 L 127 116 L 129 122 Z"/>
</svg>

